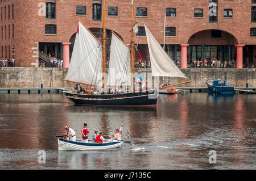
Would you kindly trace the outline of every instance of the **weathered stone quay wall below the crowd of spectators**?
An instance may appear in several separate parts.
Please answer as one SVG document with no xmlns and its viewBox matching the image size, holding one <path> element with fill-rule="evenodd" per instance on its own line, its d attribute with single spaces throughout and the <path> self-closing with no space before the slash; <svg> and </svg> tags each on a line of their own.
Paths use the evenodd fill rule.
<svg viewBox="0 0 256 181">
<path fill-rule="evenodd" d="M 108 69 L 107 69 L 108 71 Z M 255 69 L 181 69 L 187 78 L 160 77 L 159 85 L 163 82 L 179 83 L 193 81 L 179 87 L 206 87 L 205 83 L 212 79 L 225 79 L 229 86 L 256 86 Z M 65 82 L 68 69 L 63 68 L 0 68 L 1 88 L 39 88 L 43 87 L 74 87 L 74 83 Z M 135 77 L 150 76 L 151 69 L 135 69 Z M 23 83 L 24 82 L 24 83 Z M 22 85 L 23 84 L 23 85 Z"/>
</svg>

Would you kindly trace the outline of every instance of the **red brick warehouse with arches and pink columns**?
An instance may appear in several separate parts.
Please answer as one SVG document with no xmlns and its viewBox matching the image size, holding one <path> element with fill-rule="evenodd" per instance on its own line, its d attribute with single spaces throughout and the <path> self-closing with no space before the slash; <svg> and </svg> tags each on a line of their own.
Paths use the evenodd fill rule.
<svg viewBox="0 0 256 181">
<path fill-rule="evenodd" d="M 149 60 L 143 23 L 166 52 L 187 68 L 191 60 L 256 63 L 255 0 L 134 0 L 136 59 Z M 0 57 L 16 66 L 37 67 L 39 52 L 69 62 L 80 19 L 97 37 L 102 33 L 99 0 L 1 0 Z M 130 44 L 131 0 L 106 0 L 107 37 L 111 31 Z M 165 35 L 165 36 L 164 36 Z M 107 47 L 109 48 L 110 40 Z M 108 55 L 107 48 L 107 55 Z M 65 64 L 68 66 L 68 64 Z"/>
</svg>

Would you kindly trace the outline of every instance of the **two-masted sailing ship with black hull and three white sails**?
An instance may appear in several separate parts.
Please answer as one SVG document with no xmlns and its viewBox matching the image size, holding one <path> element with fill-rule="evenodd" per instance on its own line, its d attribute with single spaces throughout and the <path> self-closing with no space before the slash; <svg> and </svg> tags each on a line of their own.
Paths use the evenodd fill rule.
<svg viewBox="0 0 256 181">
<path fill-rule="evenodd" d="M 105 1 L 103 35 L 105 35 Z M 109 75 L 105 80 L 105 41 L 103 45 L 92 32 L 79 21 L 76 40 L 73 47 L 71 64 L 65 81 L 86 85 L 89 89 L 81 94 L 63 91 L 68 99 L 83 106 L 118 106 L 118 107 L 155 107 L 158 90 L 134 89 L 134 41 L 133 41 L 133 2 L 131 3 L 131 49 L 112 34 Z M 145 26 L 146 28 L 146 26 Z M 103 37 L 105 40 L 105 36 Z M 147 29 L 147 41 L 150 49 L 152 76 L 185 77 L 179 68 L 164 52 Z M 162 47 L 160 47 L 162 49 Z M 130 54 L 130 56 L 129 56 Z M 101 73 L 103 70 L 103 73 Z M 106 84 L 105 84 L 105 81 Z M 123 85 L 124 84 L 124 85 Z M 125 89 L 123 90 L 123 86 Z M 128 89 L 127 89 L 128 88 Z M 109 91 L 114 89 L 113 92 Z"/>
</svg>

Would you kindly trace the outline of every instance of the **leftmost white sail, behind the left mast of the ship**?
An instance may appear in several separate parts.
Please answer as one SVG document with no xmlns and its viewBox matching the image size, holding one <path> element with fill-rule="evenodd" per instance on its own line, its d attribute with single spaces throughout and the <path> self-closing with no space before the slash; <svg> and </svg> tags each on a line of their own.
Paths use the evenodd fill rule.
<svg viewBox="0 0 256 181">
<path fill-rule="evenodd" d="M 66 79 L 102 86 L 102 46 L 81 22 Z"/>
</svg>

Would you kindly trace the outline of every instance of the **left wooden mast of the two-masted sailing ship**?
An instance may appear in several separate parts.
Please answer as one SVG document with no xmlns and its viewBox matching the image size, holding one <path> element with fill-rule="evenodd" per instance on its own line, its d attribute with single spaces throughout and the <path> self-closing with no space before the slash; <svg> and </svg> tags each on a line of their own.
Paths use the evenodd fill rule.
<svg viewBox="0 0 256 181">
<path fill-rule="evenodd" d="M 105 15 L 105 0 L 102 0 L 103 5 L 103 54 L 102 54 L 102 88 L 105 86 L 105 72 L 106 72 L 106 15 Z"/>
</svg>

